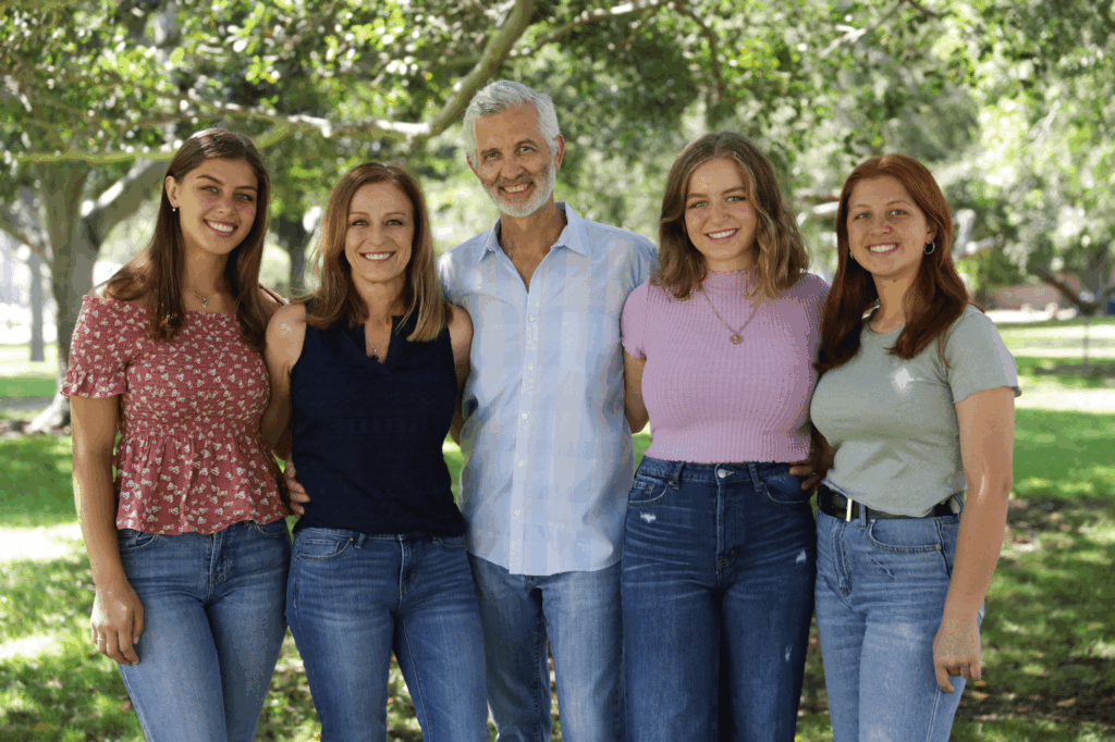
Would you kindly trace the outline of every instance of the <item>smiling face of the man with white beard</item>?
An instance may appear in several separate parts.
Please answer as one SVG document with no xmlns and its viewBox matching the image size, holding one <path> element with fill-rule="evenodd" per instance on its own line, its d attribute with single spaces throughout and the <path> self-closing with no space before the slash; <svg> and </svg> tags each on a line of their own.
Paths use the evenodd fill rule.
<svg viewBox="0 0 1115 742">
<path fill-rule="evenodd" d="M 468 166 L 502 213 L 530 216 L 553 199 L 565 144 L 559 135 L 556 150 L 550 152 L 533 104 L 481 116 L 474 131 L 476 154 Z"/>
</svg>

